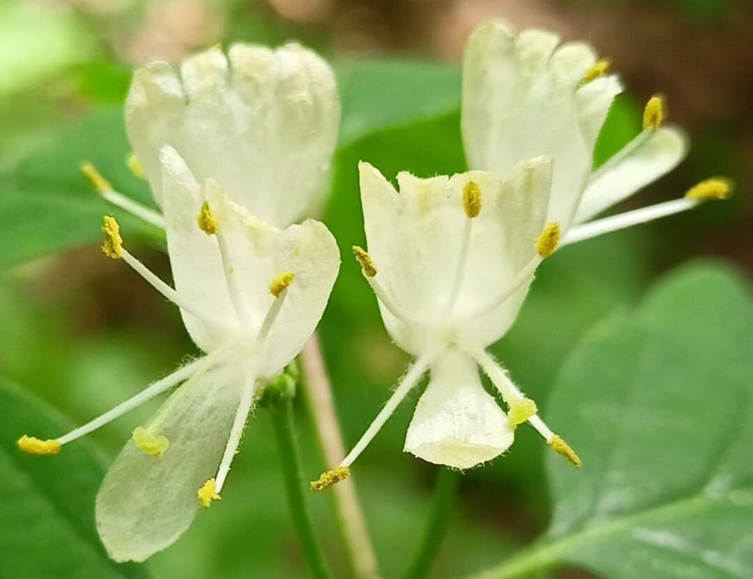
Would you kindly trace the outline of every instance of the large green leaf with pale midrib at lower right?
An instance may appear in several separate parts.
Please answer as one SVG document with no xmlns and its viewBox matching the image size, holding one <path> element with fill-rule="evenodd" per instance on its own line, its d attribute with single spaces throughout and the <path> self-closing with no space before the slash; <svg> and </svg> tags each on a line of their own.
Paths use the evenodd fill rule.
<svg viewBox="0 0 753 579">
<path fill-rule="evenodd" d="M 549 530 L 481 576 L 753 576 L 751 344 L 751 297 L 718 266 L 686 267 L 593 328 L 545 416 L 584 466 L 550 454 Z"/>
</svg>

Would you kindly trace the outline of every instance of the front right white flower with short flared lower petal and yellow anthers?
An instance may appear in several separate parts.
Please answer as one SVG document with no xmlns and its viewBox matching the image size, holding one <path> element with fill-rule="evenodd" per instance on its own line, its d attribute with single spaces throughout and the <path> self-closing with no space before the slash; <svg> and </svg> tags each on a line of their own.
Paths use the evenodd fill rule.
<svg viewBox="0 0 753 579">
<path fill-rule="evenodd" d="M 416 361 L 361 440 L 312 489 L 349 474 L 426 370 L 431 379 L 407 431 L 407 452 L 437 465 L 471 468 L 504 453 L 515 427 L 527 420 L 580 465 L 536 416 L 535 403 L 486 353 L 511 327 L 535 268 L 559 242 L 558 225 L 547 222 L 551 169 L 547 157 L 533 157 L 508 176 L 470 171 L 424 179 L 403 172 L 398 193 L 377 169 L 361 163 L 369 251 L 354 251 L 390 337 Z M 478 366 L 509 413 L 483 389 Z"/>
</svg>

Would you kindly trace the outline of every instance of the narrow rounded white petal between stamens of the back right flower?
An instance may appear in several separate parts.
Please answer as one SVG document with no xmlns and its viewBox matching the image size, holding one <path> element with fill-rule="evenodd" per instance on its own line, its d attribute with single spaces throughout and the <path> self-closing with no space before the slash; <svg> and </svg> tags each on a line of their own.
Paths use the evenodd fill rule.
<svg viewBox="0 0 753 579">
<path fill-rule="evenodd" d="M 574 223 L 590 220 L 666 175 L 685 158 L 687 149 L 687 137 L 675 126 L 637 136 L 590 178 Z"/>
</svg>

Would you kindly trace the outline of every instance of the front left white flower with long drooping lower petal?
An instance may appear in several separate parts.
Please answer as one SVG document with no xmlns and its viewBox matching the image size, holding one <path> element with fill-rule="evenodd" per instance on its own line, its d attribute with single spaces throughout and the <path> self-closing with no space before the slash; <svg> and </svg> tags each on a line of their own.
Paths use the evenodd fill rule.
<svg viewBox="0 0 753 579">
<path fill-rule="evenodd" d="M 200 506 L 220 498 L 260 389 L 303 348 L 322 317 L 340 267 L 319 221 L 279 229 L 200 184 L 174 148 L 160 151 L 162 205 L 175 288 L 136 260 L 105 217 L 108 257 L 122 259 L 181 310 L 205 352 L 87 425 L 21 449 L 53 454 L 172 387 L 105 475 L 96 524 L 116 561 L 142 561 L 183 533 Z"/>
</svg>

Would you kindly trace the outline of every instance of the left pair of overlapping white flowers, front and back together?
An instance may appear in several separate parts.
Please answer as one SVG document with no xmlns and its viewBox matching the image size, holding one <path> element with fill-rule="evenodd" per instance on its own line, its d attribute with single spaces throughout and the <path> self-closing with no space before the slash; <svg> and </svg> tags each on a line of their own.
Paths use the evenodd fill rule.
<svg viewBox="0 0 753 579">
<path fill-rule="evenodd" d="M 123 247 L 111 217 L 102 250 L 180 308 L 206 355 L 68 434 L 18 441 L 29 453 L 58 453 L 182 383 L 133 431 L 99 489 L 97 529 L 117 561 L 142 561 L 168 547 L 200 506 L 220 498 L 260 389 L 315 330 L 340 267 L 322 223 L 289 224 L 318 194 L 334 146 L 331 72 L 300 47 L 236 46 L 230 62 L 227 76 L 218 50 L 189 59 L 182 69 L 187 102 L 166 66 L 136 75 L 130 135 L 163 215 L 122 203 L 96 169 L 84 169 L 105 197 L 165 227 L 175 288 Z"/>
</svg>

